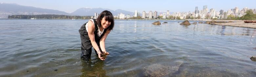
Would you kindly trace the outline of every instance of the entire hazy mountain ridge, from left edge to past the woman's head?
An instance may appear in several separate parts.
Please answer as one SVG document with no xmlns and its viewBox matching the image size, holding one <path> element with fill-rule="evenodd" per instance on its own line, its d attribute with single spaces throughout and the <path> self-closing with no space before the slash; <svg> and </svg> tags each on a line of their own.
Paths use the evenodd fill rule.
<svg viewBox="0 0 256 77">
<path fill-rule="evenodd" d="M 134 14 L 134 12 L 117 9 L 111 10 L 107 8 L 79 8 L 72 13 L 67 13 L 64 11 L 47 9 L 47 8 L 36 8 L 32 6 L 22 6 L 15 3 L 1 3 L 0 4 L 0 18 L 8 18 L 8 15 L 40 15 L 40 14 L 56 14 L 56 15 L 78 15 L 78 16 L 94 16 L 96 13 L 101 13 L 104 10 L 109 10 L 113 16 L 117 16 L 119 13 L 125 15 Z"/>
</svg>

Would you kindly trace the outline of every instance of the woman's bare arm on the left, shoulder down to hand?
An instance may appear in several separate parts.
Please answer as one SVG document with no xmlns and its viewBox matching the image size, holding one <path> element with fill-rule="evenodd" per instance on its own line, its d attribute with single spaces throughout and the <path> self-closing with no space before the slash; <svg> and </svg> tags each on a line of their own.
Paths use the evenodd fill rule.
<svg viewBox="0 0 256 77">
<path fill-rule="evenodd" d="M 99 50 L 99 47 L 98 47 L 98 45 L 97 45 L 97 43 L 96 43 L 96 41 L 95 41 L 95 35 L 94 35 L 94 31 L 95 31 L 95 26 L 94 26 L 94 23 L 93 23 L 93 21 L 89 21 L 88 22 L 88 36 L 89 36 L 89 38 L 90 38 L 90 40 L 91 40 L 91 43 L 92 43 L 92 45 L 93 45 L 93 48 L 95 49 L 95 51 L 97 51 L 97 53 L 98 53 L 98 57 L 101 59 L 101 60 L 103 60 L 103 57 L 101 57 L 100 56 L 100 54 L 101 54 L 101 52 L 99 52 L 100 50 Z"/>
</svg>

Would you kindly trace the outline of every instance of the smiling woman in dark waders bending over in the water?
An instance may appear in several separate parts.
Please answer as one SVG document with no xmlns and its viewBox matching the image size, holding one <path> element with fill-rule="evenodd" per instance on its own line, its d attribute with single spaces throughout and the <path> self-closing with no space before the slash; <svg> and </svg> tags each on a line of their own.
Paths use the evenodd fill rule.
<svg viewBox="0 0 256 77">
<path fill-rule="evenodd" d="M 101 60 L 101 51 L 109 54 L 105 49 L 105 39 L 114 28 L 114 17 L 110 11 L 102 11 L 98 18 L 91 19 L 79 29 L 81 46 L 81 58 L 89 60 L 92 54 L 92 47 Z"/>
</svg>

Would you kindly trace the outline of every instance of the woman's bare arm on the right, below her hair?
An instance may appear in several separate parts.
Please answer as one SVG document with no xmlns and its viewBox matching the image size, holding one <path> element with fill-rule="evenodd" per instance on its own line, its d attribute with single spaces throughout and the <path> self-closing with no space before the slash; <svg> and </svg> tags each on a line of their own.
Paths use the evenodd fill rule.
<svg viewBox="0 0 256 77">
<path fill-rule="evenodd" d="M 107 30 L 106 33 L 102 36 L 102 38 L 100 39 L 99 41 L 99 45 L 100 45 L 100 48 L 101 48 L 101 51 L 102 52 L 106 52 L 106 49 L 105 49 L 105 40 L 108 36 L 108 34 L 110 33 L 111 30 Z M 109 54 L 108 52 L 106 52 L 107 54 Z"/>
</svg>

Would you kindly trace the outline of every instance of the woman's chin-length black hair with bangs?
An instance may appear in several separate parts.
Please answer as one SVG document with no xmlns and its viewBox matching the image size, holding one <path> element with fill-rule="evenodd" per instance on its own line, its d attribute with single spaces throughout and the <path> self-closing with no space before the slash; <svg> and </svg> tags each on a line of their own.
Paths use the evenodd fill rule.
<svg viewBox="0 0 256 77">
<path fill-rule="evenodd" d="M 102 27 L 101 25 L 101 20 L 102 18 L 105 17 L 105 20 L 108 22 L 111 22 L 111 24 L 109 25 L 109 27 L 107 28 L 107 30 L 112 30 L 114 28 L 115 22 L 114 22 L 114 17 L 112 15 L 112 13 L 108 10 L 102 11 L 98 18 L 97 18 L 97 24 L 99 25 L 99 27 Z"/>
</svg>

